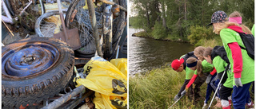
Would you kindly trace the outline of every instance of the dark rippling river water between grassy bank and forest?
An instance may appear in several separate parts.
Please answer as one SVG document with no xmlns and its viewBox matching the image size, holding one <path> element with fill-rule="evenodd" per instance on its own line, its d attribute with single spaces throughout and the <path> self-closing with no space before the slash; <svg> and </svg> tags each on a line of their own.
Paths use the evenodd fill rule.
<svg viewBox="0 0 256 109">
<path fill-rule="evenodd" d="M 171 63 L 194 50 L 194 46 L 188 43 L 172 41 L 158 41 L 151 38 L 132 37 L 133 33 L 142 29 L 129 29 L 129 75 L 138 72 L 147 72 L 153 68 Z"/>
</svg>

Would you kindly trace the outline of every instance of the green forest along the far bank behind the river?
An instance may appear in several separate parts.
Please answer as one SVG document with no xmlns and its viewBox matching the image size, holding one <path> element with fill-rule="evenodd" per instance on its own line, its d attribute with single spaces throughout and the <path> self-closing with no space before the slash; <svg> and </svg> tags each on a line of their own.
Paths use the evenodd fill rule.
<svg viewBox="0 0 256 109">
<path fill-rule="evenodd" d="M 222 45 L 208 26 L 212 14 L 235 10 L 242 14 L 242 23 L 254 25 L 254 0 L 130 0 L 129 25 L 144 29 L 143 37 L 170 41 L 190 41 L 198 46 Z M 139 35 L 138 35 L 139 36 Z M 206 44 L 207 42 L 207 44 Z"/>
</svg>

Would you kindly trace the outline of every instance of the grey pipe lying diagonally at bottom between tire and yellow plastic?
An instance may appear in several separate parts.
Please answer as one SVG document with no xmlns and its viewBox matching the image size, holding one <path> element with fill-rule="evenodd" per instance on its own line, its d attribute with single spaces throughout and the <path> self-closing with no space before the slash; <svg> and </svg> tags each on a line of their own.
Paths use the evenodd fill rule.
<svg viewBox="0 0 256 109">
<path fill-rule="evenodd" d="M 49 103 L 49 105 L 42 107 L 42 109 L 55 109 L 59 106 L 61 106 L 63 103 L 66 103 L 68 100 L 70 100 L 75 95 L 78 95 L 80 92 L 84 91 L 86 87 L 83 85 L 79 86 L 78 88 L 74 88 L 73 91 L 70 91 L 66 95 L 63 95 L 61 98 L 54 100 L 54 102 Z"/>
</svg>

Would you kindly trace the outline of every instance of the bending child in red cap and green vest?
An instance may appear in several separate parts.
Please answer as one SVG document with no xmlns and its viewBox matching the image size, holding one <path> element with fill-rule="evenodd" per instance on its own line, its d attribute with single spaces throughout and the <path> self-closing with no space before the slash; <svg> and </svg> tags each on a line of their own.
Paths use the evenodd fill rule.
<svg viewBox="0 0 256 109">
<path fill-rule="evenodd" d="M 191 77 L 192 77 L 193 74 L 194 74 L 194 71 L 193 71 L 193 70 L 190 70 L 190 68 L 187 68 L 187 67 L 186 67 L 186 60 L 187 60 L 189 57 L 195 57 L 195 58 L 197 58 L 196 56 L 194 56 L 194 52 L 190 52 L 190 53 L 186 53 L 185 55 L 182 55 L 179 60 L 178 60 L 178 59 L 173 60 L 172 63 L 171 63 L 171 67 L 174 69 L 174 71 L 176 71 L 176 72 L 182 72 L 183 70 L 186 71 L 186 79 L 185 79 L 185 82 L 184 82 L 184 84 L 182 85 L 182 88 L 180 89 L 180 91 L 178 91 L 178 94 L 175 95 L 174 101 L 176 101 L 177 99 L 179 99 L 179 98 L 182 96 L 182 91 L 185 90 L 186 84 L 189 83 Z M 193 96 L 192 88 L 190 88 L 189 99 L 192 98 L 192 96 Z"/>
</svg>

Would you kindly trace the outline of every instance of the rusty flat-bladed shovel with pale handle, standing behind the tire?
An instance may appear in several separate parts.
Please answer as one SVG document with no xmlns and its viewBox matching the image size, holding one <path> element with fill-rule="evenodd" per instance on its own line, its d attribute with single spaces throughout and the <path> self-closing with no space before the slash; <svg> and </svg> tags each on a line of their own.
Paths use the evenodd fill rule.
<svg viewBox="0 0 256 109">
<path fill-rule="evenodd" d="M 59 11 L 59 16 L 62 21 L 62 29 L 63 31 L 60 33 L 54 34 L 54 38 L 57 38 L 59 40 L 65 41 L 67 44 L 70 45 L 70 47 L 75 50 L 81 48 L 81 43 L 80 43 L 80 37 L 78 33 L 78 29 L 66 29 L 66 25 L 64 23 L 64 17 L 62 13 L 62 3 L 60 0 L 57 0 L 58 2 L 58 11 Z"/>
</svg>

